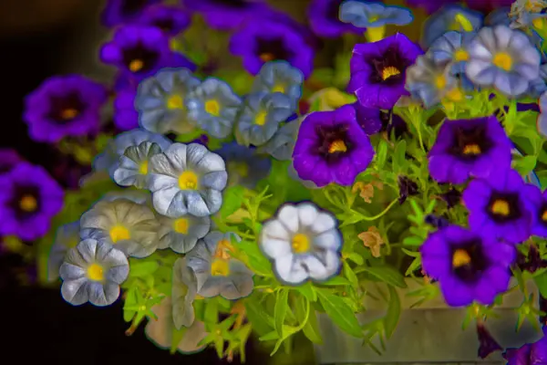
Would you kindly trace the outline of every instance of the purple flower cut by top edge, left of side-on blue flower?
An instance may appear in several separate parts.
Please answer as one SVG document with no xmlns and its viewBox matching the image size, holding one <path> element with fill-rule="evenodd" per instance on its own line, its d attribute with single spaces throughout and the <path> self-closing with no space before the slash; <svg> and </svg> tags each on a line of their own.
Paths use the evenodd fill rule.
<svg viewBox="0 0 547 365">
<path fill-rule="evenodd" d="M 344 33 L 362 33 L 356 26 L 343 23 L 338 17 L 344 0 L 313 0 L 307 8 L 312 30 L 317 36 L 337 37 Z"/>
</svg>

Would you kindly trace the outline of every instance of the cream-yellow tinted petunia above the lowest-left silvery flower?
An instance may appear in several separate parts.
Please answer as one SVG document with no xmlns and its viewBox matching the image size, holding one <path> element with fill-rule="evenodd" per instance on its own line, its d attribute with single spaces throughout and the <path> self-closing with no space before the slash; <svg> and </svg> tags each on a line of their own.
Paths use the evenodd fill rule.
<svg viewBox="0 0 547 365">
<path fill-rule="evenodd" d="M 115 245 L 125 255 L 147 257 L 158 248 L 160 223 L 145 204 L 99 201 L 80 218 L 80 237 Z"/>
</svg>

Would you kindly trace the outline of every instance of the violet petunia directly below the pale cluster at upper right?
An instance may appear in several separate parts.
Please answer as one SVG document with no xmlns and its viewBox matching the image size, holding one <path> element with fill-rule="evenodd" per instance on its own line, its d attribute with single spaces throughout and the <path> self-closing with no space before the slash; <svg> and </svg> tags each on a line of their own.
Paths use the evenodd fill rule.
<svg viewBox="0 0 547 365">
<path fill-rule="evenodd" d="M 511 166 L 511 141 L 496 117 L 446 120 L 429 151 L 429 173 L 439 183 L 465 183 Z"/>
</svg>

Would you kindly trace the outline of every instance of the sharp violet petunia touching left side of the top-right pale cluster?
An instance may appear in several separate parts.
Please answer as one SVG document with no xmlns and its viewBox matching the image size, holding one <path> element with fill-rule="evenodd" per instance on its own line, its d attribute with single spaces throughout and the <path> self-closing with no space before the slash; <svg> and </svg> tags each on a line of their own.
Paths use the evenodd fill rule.
<svg viewBox="0 0 547 365">
<path fill-rule="evenodd" d="M 401 96 L 409 95 L 405 89 L 407 68 L 422 54 L 422 49 L 401 33 L 358 44 L 350 61 L 347 89 L 355 92 L 365 107 L 391 109 Z"/>
</svg>

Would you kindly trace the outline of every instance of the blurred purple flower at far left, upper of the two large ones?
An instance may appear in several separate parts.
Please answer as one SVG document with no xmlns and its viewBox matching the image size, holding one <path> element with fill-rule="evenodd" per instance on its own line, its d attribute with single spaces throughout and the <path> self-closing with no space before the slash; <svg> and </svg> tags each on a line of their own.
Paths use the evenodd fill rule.
<svg viewBox="0 0 547 365">
<path fill-rule="evenodd" d="M 33 140 L 57 142 L 97 132 L 106 101 L 107 90 L 89 78 L 55 76 L 26 97 L 23 118 Z"/>
</svg>

